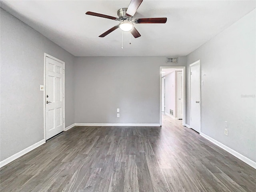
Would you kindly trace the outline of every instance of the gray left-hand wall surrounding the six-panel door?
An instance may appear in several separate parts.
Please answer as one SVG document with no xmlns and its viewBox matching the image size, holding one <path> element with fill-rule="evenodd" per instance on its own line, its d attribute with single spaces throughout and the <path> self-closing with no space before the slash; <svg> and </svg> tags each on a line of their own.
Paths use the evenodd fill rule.
<svg viewBox="0 0 256 192">
<path fill-rule="evenodd" d="M 65 62 L 66 126 L 74 123 L 74 56 L 2 8 L 0 160 L 44 139 L 44 52 Z"/>
</svg>

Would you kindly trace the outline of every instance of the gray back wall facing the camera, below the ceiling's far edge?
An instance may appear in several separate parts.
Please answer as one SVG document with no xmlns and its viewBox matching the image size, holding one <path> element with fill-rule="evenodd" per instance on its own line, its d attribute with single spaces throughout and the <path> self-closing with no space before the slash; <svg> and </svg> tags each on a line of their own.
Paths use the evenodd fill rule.
<svg viewBox="0 0 256 192">
<path fill-rule="evenodd" d="M 76 57 L 76 123 L 159 123 L 160 66 L 166 57 Z M 120 118 L 116 117 L 120 108 Z"/>
</svg>

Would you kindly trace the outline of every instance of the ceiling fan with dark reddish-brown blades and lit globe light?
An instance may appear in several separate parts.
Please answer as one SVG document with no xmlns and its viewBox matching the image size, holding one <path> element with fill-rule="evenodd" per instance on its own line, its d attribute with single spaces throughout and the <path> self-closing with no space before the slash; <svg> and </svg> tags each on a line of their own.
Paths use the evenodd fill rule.
<svg viewBox="0 0 256 192">
<path fill-rule="evenodd" d="M 143 0 L 131 0 L 128 8 L 120 8 L 117 11 L 118 18 L 95 13 L 95 12 L 86 12 L 87 15 L 97 16 L 97 17 L 103 17 L 107 19 L 112 19 L 116 21 L 120 21 L 120 23 L 111 29 L 107 30 L 106 32 L 102 33 L 99 37 L 105 37 L 106 35 L 110 34 L 117 28 L 120 28 L 122 31 L 130 31 L 131 34 L 134 36 L 134 38 L 140 37 L 140 33 L 136 30 L 134 27 L 134 24 L 142 24 L 142 23 L 166 23 L 167 18 L 140 18 L 140 19 L 134 19 L 132 20 L 132 17 L 136 13 L 138 7 L 142 3 Z"/>
</svg>

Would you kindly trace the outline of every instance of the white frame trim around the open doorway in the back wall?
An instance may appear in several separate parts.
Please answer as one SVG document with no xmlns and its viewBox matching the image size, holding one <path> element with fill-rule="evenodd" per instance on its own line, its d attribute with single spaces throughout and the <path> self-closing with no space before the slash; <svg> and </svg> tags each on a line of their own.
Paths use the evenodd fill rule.
<svg viewBox="0 0 256 192">
<path fill-rule="evenodd" d="M 159 75 L 159 82 L 160 82 L 160 103 L 159 103 L 159 115 L 160 115 L 160 126 L 162 126 L 162 69 L 164 68 L 176 68 L 182 69 L 183 75 L 183 119 L 182 125 L 186 126 L 186 67 L 185 66 L 160 66 L 160 75 Z"/>
</svg>

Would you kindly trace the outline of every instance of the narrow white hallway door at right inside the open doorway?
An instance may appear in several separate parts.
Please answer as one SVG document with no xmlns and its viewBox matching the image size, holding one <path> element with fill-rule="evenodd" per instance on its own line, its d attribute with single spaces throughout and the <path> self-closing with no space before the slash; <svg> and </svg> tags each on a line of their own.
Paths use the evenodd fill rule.
<svg viewBox="0 0 256 192">
<path fill-rule="evenodd" d="M 183 76 L 182 76 L 182 72 L 177 72 L 177 95 L 178 95 L 177 118 L 183 119 Z"/>
</svg>

